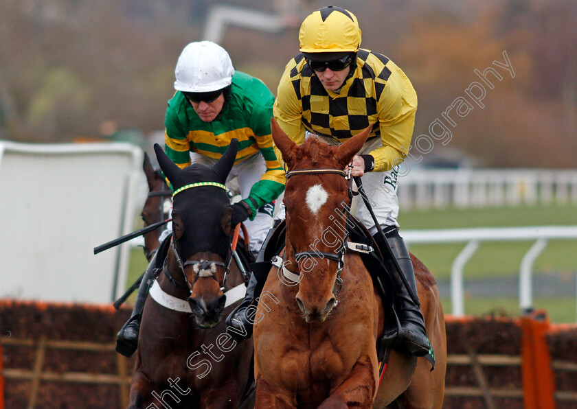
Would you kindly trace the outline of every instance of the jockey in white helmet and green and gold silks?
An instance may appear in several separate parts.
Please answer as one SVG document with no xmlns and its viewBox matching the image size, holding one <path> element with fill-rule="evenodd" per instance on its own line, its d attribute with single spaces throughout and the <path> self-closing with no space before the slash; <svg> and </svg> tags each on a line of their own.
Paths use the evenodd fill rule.
<svg viewBox="0 0 577 409">
<path fill-rule="evenodd" d="M 166 154 L 181 168 L 191 163 L 214 166 L 231 139 L 238 140 L 227 184 L 236 178 L 241 200 L 231 206 L 230 223 L 245 223 L 245 244 L 256 254 L 271 228 L 274 200 L 284 191 L 284 170 L 271 135 L 274 96 L 262 81 L 235 71 L 227 51 L 210 41 L 187 45 L 174 75 L 177 92 L 165 115 Z M 171 227 L 160 237 L 161 248 L 170 240 Z M 116 350 L 122 355 L 131 356 L 137 349 L 146 294 L 162 261 L 157 256 L 150 261 L 131 318 L 118 333 Z"/>
</svg>

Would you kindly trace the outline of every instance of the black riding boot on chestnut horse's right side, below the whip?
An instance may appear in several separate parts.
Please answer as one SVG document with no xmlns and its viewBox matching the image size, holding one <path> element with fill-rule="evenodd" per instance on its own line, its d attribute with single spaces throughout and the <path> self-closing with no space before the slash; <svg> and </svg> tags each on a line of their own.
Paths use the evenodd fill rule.
<svg viewBox="0 0 577 409">
<path fill-rule="evenodd" d="M 422 318 L 422 314 L 419 309 L 417 285 L 415 281 L 415 272 L 413 270 L 413 264 L 411 262 L 411 257 L 409 256 L 409 251 L 403 237 L 398 235 L 398 230 L 394 230 L 387 233 L 387 242 L 391 246 L 392 253 L 398 262 L 400 267 L 400 274 L 405 276 L 407 279 L 407 284 L 411 292 L 414 294 L 415 300 L 411 297 L 411 294 L 407 291 L 403 280 L 396 273 L 396 268 L 394 268 L 394 263 L 387 256 L 389 253 L 386 251 L 385 242 L 379 233 L 374 236 L 378 248 L 383 254 L 385 259 L 385 266 L 394 284 L 396 296 L 398 298 L 398 305 L 400 305 L 400 332 L 394 344 L 406 349 L 411 355 L 424 356 L 429 353 L 431 345 L 429 344 L 429 338 L 427 337 L 427 330 L 425 329 L 425 323 Z M 389 340 L 381 340 L 387 342 Z"/>
</svg>

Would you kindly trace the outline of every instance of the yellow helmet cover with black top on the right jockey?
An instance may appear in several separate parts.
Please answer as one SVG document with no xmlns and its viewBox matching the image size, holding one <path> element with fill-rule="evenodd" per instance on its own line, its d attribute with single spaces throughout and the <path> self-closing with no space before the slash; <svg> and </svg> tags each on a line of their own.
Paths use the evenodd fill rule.
<svg viewBox="0 0 577 409">
<path fill-rule="evenodd" d="M 352 12 L 329 5 L 304 19 L 299 42 L 304 53 L 357 52 L 361 29 Z"/>
</svg>

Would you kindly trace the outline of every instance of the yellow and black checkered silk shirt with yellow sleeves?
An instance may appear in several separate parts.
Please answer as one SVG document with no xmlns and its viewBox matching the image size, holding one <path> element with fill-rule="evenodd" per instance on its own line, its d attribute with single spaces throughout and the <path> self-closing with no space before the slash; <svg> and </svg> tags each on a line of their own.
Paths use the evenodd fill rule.
<svg viewBox="0 0 577 409">
<path fill-rule="evenodd" d="M 324 89 L 303 54 L 295 56 L 279 84 L 274 115 L 297 144 L 306 130 L 343 142 L 372 124 L 368 140 L 380 137 L 383 147 L 370 153 L 375 170 L 383 171 L 406 156 L 416 108 L 416 93 L 403 71 L 389 58 L 359 49 L 357 67 L 338 92 Z"/>
</svg>

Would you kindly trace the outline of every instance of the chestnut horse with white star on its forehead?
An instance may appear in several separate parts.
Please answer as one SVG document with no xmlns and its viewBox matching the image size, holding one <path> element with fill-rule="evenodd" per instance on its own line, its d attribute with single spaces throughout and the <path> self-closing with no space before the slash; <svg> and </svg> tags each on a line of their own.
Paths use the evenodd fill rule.
<svg viewBox="0 0 577 409">
<path fill-rule="evenodd" d="M 286 245 L 261 296 L 280 302 L 259 303 L 255 314 L 255 408 L 440 408 L 446 336 L 431 273 L 411 256 L 435 369 L 425 358 L 392 350 L 379 384 L 381 295 L 359 254 L 338 251 L 346 240 L 342 215 L 350 209 L 343 169 L 370 128 L 338 147 L 314 137 L 297 146 L 275 121 L 272 130 L 288 167 Z M 336 246 L 326 240 L 328 231 L 339 238 Z M 326 257 L 313 257 L 311 249 Z"/>
</svg>

